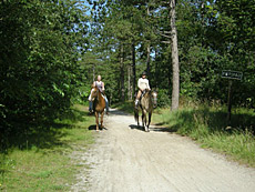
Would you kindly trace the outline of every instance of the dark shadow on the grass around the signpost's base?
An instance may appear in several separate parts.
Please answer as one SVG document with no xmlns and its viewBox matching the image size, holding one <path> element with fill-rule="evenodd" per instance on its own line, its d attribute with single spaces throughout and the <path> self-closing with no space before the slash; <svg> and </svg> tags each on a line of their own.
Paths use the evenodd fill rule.
<svg viewBox="0 0 255 192">
<path fill-rule="evenodd" d="M 171 122 L 172 121 L 172 122 Z M 156 127 L 165 127 L 159 131 L 190 132 L 197 125 L 206 125 L 208 133 L 214 132 L 235 132 L 248 130 L 255 133 L 255 115 L 252 113 L 233 113 L 231 124 L 227 122 L 227 113 L 225 111 L 211 111 L 210 109 L 198 109 L 192 111 L 180 111 L 174 118 L 155 124 Z M 227 128 L 227 129 L 226 129 Z"/>
</svg>

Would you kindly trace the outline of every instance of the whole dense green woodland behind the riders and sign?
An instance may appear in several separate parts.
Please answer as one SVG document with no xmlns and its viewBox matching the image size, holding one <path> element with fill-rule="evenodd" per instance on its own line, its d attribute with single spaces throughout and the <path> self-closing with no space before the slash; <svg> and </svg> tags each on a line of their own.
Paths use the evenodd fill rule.
<svg viewBox="0 0 255 192">
<path fill-rule="evenodd" d="M 146 71 L 159 105 L 171 105 L 173 8 L 180 102 L 226 104 L 221 73 L 233 70 L 244 74 L 233 104 L 255 108 L 255 0 L 2 0 L 1 145 L 86 101 L 98 74 L 115 103 Z"/>
</svg>

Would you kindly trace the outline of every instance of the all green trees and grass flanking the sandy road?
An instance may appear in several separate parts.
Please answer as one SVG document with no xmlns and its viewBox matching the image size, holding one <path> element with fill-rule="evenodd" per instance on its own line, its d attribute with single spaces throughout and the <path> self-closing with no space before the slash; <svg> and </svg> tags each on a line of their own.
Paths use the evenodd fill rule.
<svg viewBox="0 0 255 192">
<path fill-rule="evenodd" d="M 70 108 L 88 100 L 98 74 L 110 103 L 124 103 L 116 107 L 133 112 L 128 100 L 146 71 L 151 88 L 157 89 L 159 107 L 165 108 L 155 110 L 154 123 L 255 164 L 255 120 L 249 110 L 255 109 L 254 1 L 170 4 L 0 1 L 0 190 L 69 190 L 75 172 L 71 151 L 92 142 L 88 125 L 94 123 L 84 118 L 83 107 Z M 167 18 L 173 8 L 180 71 L 172 70 L 173 27 Z M 227 102 L 231 83 L 221 78 L 223 70 L 243 73 L 231 87 L 236 110 L 227 130 L 221 104 Z M 173 71 L 180 72 L 181 97 L 218 101 L 218 107 L 185 101 L 170 112 Z"/>
</svg>

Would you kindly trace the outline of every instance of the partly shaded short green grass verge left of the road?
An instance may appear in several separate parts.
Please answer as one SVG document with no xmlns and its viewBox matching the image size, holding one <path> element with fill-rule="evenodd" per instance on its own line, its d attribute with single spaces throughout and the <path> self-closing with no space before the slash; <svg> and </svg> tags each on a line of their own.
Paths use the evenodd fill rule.
<svg viewBox="0 0 255 192">
<path fill-rule="evenodd" d="M 84 110 L 75 105 L 62 120 L 29 132 L 26 141 L 17 139 L 0 153 L 0 191 L 70 191 L 80 169 L 71 153 L 93 143 L 88 128 L 94 119 Z"/>
</svg>

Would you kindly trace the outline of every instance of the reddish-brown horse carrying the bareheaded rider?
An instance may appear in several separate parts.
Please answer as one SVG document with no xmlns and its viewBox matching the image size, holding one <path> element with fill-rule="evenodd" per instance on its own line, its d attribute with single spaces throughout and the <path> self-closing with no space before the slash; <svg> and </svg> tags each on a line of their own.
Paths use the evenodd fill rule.
<svg viewBox="0 0 255 192">
<path fill-rule="evenodd" d="M 93 101 L 93 110 L 94 110 L 94 115 L 95 115 L 96 131 L 99 131 L 99 115 L 100 114 L 101 114 L 101 128 L 104 128 L 103 127 L 103 114 L 104 114 L 104 108 L 105 108 L 105 100 L 96 87 L 94 87 L 92 89 L 93 89 L 93 91 L 91 93 L 91 99 Z"/>
</svg>

